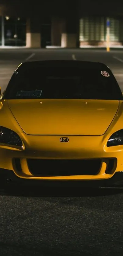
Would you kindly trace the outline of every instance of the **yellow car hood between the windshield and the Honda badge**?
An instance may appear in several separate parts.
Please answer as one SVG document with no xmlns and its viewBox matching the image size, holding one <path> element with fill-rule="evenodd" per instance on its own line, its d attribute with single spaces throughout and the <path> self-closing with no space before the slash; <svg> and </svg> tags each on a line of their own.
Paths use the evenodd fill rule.
<svg viewBox="0 0 123 256">
<path fill-rule="evenodd" d="M 8 100 L 16 121 L 29 135 L 103 135 L 118 110 L 118 100 Z"/>
</svg>

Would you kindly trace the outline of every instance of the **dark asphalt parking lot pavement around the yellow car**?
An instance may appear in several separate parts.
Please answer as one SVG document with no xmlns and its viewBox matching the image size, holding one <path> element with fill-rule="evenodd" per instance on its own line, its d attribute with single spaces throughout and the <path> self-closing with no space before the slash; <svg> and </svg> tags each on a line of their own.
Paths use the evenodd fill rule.
<svg viewBox="0 0 123 256">
<path fill-rule="evenodd" d="M 106 63 L 123 90 L 123 50 L 0 49 L 2 91 L 21 62 L 42 59 Z M 0 255 L 123 254 L 123 189 L 19 189 L 0 193 Z"/>
</svg>

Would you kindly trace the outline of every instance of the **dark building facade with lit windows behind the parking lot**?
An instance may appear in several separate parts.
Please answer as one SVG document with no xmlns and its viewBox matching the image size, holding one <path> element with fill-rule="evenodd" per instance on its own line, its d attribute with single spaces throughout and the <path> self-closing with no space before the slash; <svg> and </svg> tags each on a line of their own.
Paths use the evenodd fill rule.
<svg viewBox="0 0 123 256">
<path fill-rule="evenodd" d="M 0 2 L 0 46 L 41 48 L 123 45 L 123 4 L 101 1 Z"/>
</svg>

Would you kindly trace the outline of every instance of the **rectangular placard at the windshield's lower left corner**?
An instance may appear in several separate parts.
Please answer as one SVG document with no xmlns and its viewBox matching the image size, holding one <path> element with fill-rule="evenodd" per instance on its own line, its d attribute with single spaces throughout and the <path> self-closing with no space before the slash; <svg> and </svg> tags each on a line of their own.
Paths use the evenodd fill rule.
<svg viewBox="0 0 123 256">
<path fill-rule="evenodd" d="M 35 90 L 35 91 L 19 91 L 17 92 L 16 96 L 18 97 L 37 97 L 40 98 L 42 95 L 42 90 Z"/>
</svg>

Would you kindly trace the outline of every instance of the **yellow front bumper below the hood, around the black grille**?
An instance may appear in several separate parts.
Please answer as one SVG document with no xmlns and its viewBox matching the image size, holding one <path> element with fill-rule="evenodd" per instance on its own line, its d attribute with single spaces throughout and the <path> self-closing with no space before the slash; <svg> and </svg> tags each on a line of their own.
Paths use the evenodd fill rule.
<svg viewBox="0 0 123 256">
<path fill-rule="evenodd" d="M 60 184 L 63 184 L 63 182 L 65 184 L 69 182 L 73 182 L 73 184 L 75 182 L 77 184 L 78 182 L 97 184 L 97 181 L 99 183 L 109 183 L 115 173 L 123 170 L 123 146 L 106 147 L 107 135 L 71 135 L 68 143 L 61 143 L 58 135 L 31 136 L 23 134 L 23 136 L 25 136 L 23 138 L 25 145 L 23 148 L 0 145 L 0 168 L 4 171 L 7 170 L 7 172 L 10 170 L 17 178 L 27 180 L 26 182 L 29 184 L 31 184 L 31 180 L 35 180 L 36 184 L 38 180 L 40 184 L 46 184 L 47 182 L 50 184 L 55 182 L 56 184 L 56 181 Z M 101 160 L 99 166 L 96 163 L 96 165 L 88 165 L 87 168 L 86 164 L 77 163 L 74 168 L 71 164 L 70 168 L 69 164 L 66 167 L 65 163 L 60 168 L 60 161 L 96 160 L 98 162 L 99 159 Z M 55 168 L 55 164 L 52 164 L 52 166 L 49 164 L 51 171 L 54 172 L 53 175 L 48 175 L 47 172 L 49 168 L 46 167 L 45 161 L 50 160 L 59 161 Z M 37 161 L 43 161 L 43 163 L 37 164 Z M 61 172 L 59 169 L 61 169 Z M 38 173 L 36 173 L 37 170 Z M 24 180 L 23 182 L 25 182 Z"/>
</svg>

